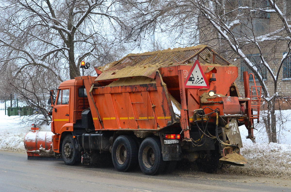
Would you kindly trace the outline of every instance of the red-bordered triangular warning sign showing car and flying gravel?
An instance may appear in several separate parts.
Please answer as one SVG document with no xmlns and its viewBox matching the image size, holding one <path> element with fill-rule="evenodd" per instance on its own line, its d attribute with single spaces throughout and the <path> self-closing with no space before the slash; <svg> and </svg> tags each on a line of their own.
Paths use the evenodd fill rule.
<svg viewBox="0 0 291 192">
<path fill-rule="evenodd" d="M 195 61 L 194 65 L 191 67 L 189 74 L 185 80 L 185 88 L 207 88 L 209 89 L 208 81 L 201 69 L 198 60 Z"/>
</svg>

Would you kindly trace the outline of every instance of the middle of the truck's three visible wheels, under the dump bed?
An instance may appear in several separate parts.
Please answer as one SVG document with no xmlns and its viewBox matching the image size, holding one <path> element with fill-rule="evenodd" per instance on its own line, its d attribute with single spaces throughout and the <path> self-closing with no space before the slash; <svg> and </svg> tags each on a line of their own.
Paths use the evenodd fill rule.
<svg viewBox="0 0 291 192">
<path fill-rule="evenodd" d="M 121 172 L 133 170 L 137 165 L 138 148 L 131 136 L 121 135 L 112 146 L 112 162 Z"/>
</svg>

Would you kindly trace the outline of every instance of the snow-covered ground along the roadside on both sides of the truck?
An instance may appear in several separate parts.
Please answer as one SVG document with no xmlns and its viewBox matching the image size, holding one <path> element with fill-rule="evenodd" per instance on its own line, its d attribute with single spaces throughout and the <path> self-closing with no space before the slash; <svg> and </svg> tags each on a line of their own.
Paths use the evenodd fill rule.
<svg viewBox="0 0 291 192">
<path fill-rule="evenodd" d="M 276 111 L 278 113 L 278 111 Z M 255 125 L 254 130 L 257 143 L 246 139 L 248 134 L 244 126 L 239 127 L 244 147 L 241 154 L 249 160 L 245 167 L 230 166 L 224 168 L 221 173 L 243 175 L 265 175 L 268 177 L 291 176 L 291 110 L 284 110 L 285 122 L 281 125 L 277 122 L 280 143 L 268 143 L 267 134 L 263 124 Z M 25 152 L 24 136 L 31 131 L 33 116 L 29 125 L 20 124 L 23 117 L 5 115 L 0 111 L 0 150 Z M 40 127 L 40 131 L 50 131 L 51 126 Z"/>
</svg>

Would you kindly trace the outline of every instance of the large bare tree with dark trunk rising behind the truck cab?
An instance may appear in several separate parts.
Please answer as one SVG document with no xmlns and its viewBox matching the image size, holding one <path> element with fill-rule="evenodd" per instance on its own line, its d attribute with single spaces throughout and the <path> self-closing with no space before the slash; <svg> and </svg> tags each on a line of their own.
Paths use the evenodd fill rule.
<svg viewBox="0 0 291 192">
<path fill-rule="evenodd" d="M 98 66 L 123 55 L 115 6 L 115 0 L 1 1 L 2 86 L 37 109 L 41 124 L 50 120 L 49 90 L 80 76 L 81 61 Z"/>
</svg>

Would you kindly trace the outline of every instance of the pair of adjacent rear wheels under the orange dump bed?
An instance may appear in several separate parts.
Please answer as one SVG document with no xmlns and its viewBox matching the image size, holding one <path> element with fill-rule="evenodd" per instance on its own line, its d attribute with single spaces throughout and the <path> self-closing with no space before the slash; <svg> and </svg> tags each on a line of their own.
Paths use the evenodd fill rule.
<svg viewBox="0 0 291 192">
<path fill-rule="evenodd" d="M 112 146 L 112 162 L 121 172 L 136 168 L 137 163 L 145 175 L 162 173 L 168 164 L 173 170 L 176 161 L 163 161 L 162 145 L 158 138 L 144 139 L 140 146 L 132 136 L 118 136 Z"/>
</svg>

